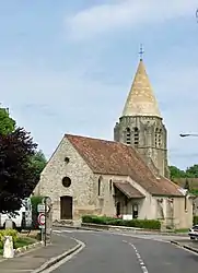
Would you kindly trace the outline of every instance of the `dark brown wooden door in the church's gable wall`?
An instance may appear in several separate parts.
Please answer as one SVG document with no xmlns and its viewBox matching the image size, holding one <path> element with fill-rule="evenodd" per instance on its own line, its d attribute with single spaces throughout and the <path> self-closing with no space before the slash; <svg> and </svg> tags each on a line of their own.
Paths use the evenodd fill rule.
<svg viewBox="0 0 198 273">
<path fill-rule="evenodd" d="M 61 219 L 72 219 L 72 197 L 61 197 L 60 198 L 60 218 Z"/>
</svg>

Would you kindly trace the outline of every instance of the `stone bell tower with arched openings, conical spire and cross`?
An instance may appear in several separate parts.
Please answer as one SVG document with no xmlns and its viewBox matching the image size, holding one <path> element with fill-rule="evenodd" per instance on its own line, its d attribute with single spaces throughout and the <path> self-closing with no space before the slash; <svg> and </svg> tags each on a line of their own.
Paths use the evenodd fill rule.
<svg viewBox="0 0 198 273">
<path fill-rule="evenodd" d="M 132 145 L 155 175 L 170 176 L 167 166 L 167 132 L 142 60 L 125 104 L 114 140 Z"/>
</svg>

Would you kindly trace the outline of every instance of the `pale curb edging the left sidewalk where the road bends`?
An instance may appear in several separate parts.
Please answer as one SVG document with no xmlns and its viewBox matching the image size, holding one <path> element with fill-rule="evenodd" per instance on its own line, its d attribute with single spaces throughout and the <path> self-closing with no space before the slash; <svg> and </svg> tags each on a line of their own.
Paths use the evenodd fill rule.
<svg viewBox="0 0 198 273">
<path fill-rule="evenodd" d="M 40 273 L 44 270 L 47 270 L 47 269 L 51 268 L 53 265 L 60 262 L 61 260 L 63 260 L 68 256 L 73 254 L 75 251 L 78 251 L 80 248 L 82 248 L 84 246 L 84 244 L 82 241 L 79 241 L 77 239 L 74 239 L 74 240 L 78 242 L 78 245 L 75 247 L 71 248 L 70 250 L 66 251 L 65 253 L 62 253 L 60 256 L 51 258 L 48 262 L 44 263 L 40 268 L 32 271 L 32 273 Z"/>
</svg>

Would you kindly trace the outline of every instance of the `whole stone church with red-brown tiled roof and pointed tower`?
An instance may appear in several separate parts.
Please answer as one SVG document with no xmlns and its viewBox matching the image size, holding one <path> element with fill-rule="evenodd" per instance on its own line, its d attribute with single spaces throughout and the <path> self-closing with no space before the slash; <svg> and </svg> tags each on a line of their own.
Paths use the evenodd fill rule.
<svg viewBox="0 0 198 273">
<path fill-rule="evenodd" d="M 82 215 L 193 224 L 193 198 L 168 179 L 167 132 L 143 60 L 114 128 L 114 141 L 65 134 L 34 190 L 48 195 L 54 221 Z"/>
</svg>

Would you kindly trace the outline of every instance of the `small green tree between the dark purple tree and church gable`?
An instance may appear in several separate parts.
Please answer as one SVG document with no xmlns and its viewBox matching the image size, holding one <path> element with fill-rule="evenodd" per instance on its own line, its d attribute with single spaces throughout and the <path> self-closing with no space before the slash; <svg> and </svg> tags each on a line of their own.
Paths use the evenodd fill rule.
<svg viewBox="0 0 198 273">
<path fill-rule="evenodd" d="M 32 156 L 31 162 L 35 168 L 35 177 L 37 178 L 37 180 L 39 180 L 39 175 L 47 164 L 47 159 L 42 150 L 39 150 Z"/>
</svg>

